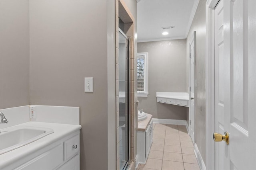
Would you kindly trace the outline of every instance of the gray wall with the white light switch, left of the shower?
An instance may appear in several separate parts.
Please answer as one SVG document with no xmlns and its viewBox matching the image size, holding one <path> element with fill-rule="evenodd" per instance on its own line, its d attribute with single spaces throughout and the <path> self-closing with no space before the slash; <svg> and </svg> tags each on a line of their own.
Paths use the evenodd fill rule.
<svg viewBox="0 0 256 170">
<path fill-rule="evenodd" d="M 30 101 L 80 107 L 84 170 L 108 167 L 106 14 L 106 1 L 30 1 Z"/>
</svg>

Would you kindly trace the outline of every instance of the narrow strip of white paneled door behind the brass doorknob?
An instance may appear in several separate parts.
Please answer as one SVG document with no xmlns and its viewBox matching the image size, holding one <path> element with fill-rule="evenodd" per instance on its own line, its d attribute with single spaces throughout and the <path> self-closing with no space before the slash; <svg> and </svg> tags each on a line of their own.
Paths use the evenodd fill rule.
<svg viewBox="0 0 256 170">
<path fill-rule="evenodd" d="M 223 0 L 215 8 L 215 132 L 224 134 Z M 215 143 L 215 169 L 223 169 L 225 143 Z"/>
</svg>

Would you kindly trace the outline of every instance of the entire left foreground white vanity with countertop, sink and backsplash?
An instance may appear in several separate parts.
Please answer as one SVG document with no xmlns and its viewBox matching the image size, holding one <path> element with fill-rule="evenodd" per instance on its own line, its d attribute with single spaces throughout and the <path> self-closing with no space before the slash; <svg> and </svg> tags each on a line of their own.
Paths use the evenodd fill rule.
<svg viewBox="0 0 256 170">
<path fill-rule="evenodd" d="M 28 121 L 30 107 L 36 108 L 36 118 Z M 10 150 L 3 152 L 5 148 L 1 147 L 0 170 L 80 169 L 82 126 L 79 123 L 79 107 L 33 105 L 7 110 L 6 117 L 10 123 L 5 127 L 1 124 L 0 137 L 2 139 L 7 135 L 8 140 L 1 142 L 6 144 L 10 141 Z M 20 120 L 20 113 L 27 121 Z M 17 137 L 16 133 L 12 133 L 13 129 L 20 131 Z M 47 134 L 42 135 L 44 133 Z M 19 147 L 16 147 L 16 143 L 12 144 L 12 140 Z"/>
</svg>

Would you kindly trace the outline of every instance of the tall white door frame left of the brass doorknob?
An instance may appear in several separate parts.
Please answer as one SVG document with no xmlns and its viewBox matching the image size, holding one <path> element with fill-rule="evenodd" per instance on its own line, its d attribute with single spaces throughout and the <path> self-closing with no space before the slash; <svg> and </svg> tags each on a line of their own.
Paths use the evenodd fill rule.
<svg viewBox="0 0 256 170">
<path fill-rule="evenodd" d="M 206 1 L 206 169 L 215 169 L 215 49 L 214 9 L 219 0 Z"/>
</svg>

